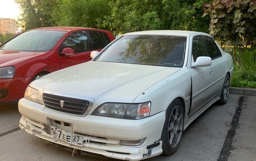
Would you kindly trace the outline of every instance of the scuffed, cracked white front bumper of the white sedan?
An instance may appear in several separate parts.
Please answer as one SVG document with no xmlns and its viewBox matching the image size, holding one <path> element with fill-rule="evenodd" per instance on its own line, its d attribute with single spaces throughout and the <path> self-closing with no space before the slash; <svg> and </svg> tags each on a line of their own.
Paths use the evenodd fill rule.
<svg viewBox="0 0 256 161">
<path fill-rule="evenodd" d="M 44 108 L 43 105 L 21 99 L 19 111 L 22 114 L 20 128 L 41 139 L 64 145 L 70 148 L 104 155 L 123 160 L 141 160 L 162 153 L 161 134 L 165 112 L 138 120 L 127 120 L 99 116 L 71 116 Z M 51 120 L 67 122 L 72 125 L 74 134 L 90 136 L 90 141 L 83 146 L 68 144 L 57 140 L 44 130 Z M 138 146 L 120 145 L 120 140 L 145 139 Z"/>
</svg>

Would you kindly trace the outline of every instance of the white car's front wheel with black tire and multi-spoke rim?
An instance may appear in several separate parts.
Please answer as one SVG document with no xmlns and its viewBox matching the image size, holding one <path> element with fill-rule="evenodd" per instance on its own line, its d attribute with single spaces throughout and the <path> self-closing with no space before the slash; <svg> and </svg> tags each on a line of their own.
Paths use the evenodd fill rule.
<svg viewBox="0 0 256 161">
<path fill-rule="evenodd" d="M 176 115 L 177 114 L 177 115 Z M 173 116 L 174 115 L 174 116 Z M 180 99 L 175 99 L 166 111 L 161 139 L 164 155 L 172 155 L 177 150 L 184 127 L 184 111 Z"/>
</svg>

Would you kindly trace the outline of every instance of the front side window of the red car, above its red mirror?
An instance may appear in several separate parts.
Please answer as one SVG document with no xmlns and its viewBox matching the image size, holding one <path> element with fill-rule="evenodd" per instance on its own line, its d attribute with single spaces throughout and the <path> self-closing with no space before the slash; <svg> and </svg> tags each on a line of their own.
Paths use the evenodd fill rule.
<svg viewBox="0 0 256 161">
<path fill-rule="evenodd" d="M 85 31 L 77 31 L 68 35 L 62 42 L 63 48 L 72 48 L 75 50 L 75 53 L 89 51 L 89 42 Z"/>
</svg>

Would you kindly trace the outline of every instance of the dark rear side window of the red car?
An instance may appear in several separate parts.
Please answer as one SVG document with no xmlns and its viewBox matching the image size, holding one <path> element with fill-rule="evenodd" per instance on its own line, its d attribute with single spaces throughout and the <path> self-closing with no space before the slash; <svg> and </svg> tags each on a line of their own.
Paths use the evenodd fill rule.
<svg viewBox="0 0 256 161">
<path fill-rule="evenodd" d="M 104 39 L 104 36 L 102 32 L 99 31 L 89 31 L 91 39 L 92 39 L 92 44 L 93 44 L 93 50 L 95 49 L 102 49 L 106 47 L 106 41 Z"/>
</svg>

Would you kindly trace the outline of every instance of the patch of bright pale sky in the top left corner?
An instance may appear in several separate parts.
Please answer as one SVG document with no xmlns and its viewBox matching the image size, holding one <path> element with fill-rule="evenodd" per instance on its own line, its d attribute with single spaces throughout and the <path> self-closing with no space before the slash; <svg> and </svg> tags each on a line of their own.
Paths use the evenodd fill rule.
<svg viewBox="0 0 256 161">
<path fill-rule="evenodd" d="M 21 11 L 14 0 L 0 0 L 0 18 L 18 19 Z"/>
</svg>

